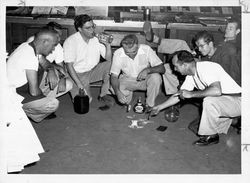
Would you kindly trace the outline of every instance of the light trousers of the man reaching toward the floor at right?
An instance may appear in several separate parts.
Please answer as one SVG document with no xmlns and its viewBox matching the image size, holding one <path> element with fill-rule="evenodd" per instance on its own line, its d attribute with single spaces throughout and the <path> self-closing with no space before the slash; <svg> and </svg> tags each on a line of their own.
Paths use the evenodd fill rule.
<svg viewBox="0 0 250 183">
<path fill-rule="evenodd" d="M 206 97 L 199 126 L 199 135 L 227 133 L 232 118 L 241 116 L 241 97 L 222 95 Z"/>
</svg>

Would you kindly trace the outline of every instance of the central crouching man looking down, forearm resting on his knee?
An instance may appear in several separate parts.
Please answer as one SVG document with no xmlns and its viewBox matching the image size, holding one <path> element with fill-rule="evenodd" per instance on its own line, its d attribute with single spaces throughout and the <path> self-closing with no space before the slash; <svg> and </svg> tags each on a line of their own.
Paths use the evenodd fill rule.
<svg viewBox="0 0 250 183">
<path fill-rule="evenodd" d="M 161 75 L 165 68 L 160 58 L 148 46 L 138 44 L 131 34 L 121 41 L 122 48 L 114 53 L 111 66 L 111 85 L 122 104 L 129 104 L 133 91 L 147 91 L 146 112 L 154 106 L 159 94 Z"/>
</svg>

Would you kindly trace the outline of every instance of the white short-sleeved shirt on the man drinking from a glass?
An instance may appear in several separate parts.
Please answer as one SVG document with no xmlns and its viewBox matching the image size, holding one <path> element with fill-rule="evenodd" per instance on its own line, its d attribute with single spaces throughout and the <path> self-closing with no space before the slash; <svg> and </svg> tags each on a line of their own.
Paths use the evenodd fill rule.
<svg viewBox="0 0 250 183">
<path fill-rule="evenodd" d="M 86 43 L 81 34 L 76 32 L 69 36 L 64 44 L 64 62 L 73 62 L 77 73 L 90 71 L 100 61 L 100 55 L 105 58 L 106 47 L 96 37 Z"/>
</svg>

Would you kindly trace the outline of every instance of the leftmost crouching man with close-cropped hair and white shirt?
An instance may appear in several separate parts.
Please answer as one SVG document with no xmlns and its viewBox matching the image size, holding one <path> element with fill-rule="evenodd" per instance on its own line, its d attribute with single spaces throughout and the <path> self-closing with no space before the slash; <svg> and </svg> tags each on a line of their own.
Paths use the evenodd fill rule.
<svg viewBox="0 0 250 183">
<path fill-rule="evenodd" d="M 39 59 L 49 55 L 59 42 L 59 35 L 54 30 L 42 29 L 32 42 L 21 44 L 7 61 L 7 77 L 9 84 L 16 88 L 18 94 L 24 97 L 23 109 L 26 115 L 35 122 L 55 112 L 59 106 L 56 97 L 66 91 L 58 93 L 58 88 L 43 93 L 39 87 L 38 67 Z M 52 64 L 47 64 L 44 69 L 54 72 Z M 70 83 L 68 83 L 70 84 Z M 50 87 L 47 85 L 47 87 Z M 66 86 L 72 88 L 72 86 Z M 46 90 L 48 91 L 48 90 Z"/>
</svg>

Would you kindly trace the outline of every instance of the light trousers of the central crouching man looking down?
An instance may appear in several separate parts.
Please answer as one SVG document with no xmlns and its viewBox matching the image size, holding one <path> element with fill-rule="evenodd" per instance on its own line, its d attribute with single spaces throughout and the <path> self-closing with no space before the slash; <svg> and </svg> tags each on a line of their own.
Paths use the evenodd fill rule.
<svg viewBox="0 0 250 183">
<path fill-rule="evenodd" d="M 161 75 L 158 73 L 149 74 L 143 81 L 136 81 L 136 78 L 129 78 L 121 75 L 119 78 L 120 90 L 128 98 L 130 103 L 133 97 L 133 91 L 142 90 L 146 93 L 146 105 L 153 107 L 155 99 L 159 94 L 160 86 L 162 83 Z"/>
</svg>

